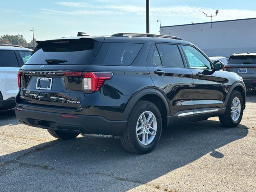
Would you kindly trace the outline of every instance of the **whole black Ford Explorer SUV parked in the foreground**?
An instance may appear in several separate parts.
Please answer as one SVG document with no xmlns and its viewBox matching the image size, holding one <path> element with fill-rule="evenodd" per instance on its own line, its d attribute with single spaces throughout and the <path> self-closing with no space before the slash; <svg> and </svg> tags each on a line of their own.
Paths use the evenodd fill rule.
<svg viewBox="0 0 256 192">
<path fill-rule="evenodd" d="M 16 117 L 56 138 L 120 136 L 126 150 L 145 154 L 163 127 L 212 116 L 233 127 L 242 119 L 242 78 L 180 38 L 114 34 L 37 43 L 18 72 Z"/>
</svg>

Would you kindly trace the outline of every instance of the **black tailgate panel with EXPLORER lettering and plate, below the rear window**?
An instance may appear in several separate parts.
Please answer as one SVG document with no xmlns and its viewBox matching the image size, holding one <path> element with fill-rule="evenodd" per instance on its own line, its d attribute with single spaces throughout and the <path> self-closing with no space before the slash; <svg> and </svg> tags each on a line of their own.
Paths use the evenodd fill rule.
<svg viewBox="0 0 256 192">
<path fill-rule="evenodd" d="M 20 71 L 23 104 L 78 108 L 84 99 L 82 72 Z"/>
</svg>

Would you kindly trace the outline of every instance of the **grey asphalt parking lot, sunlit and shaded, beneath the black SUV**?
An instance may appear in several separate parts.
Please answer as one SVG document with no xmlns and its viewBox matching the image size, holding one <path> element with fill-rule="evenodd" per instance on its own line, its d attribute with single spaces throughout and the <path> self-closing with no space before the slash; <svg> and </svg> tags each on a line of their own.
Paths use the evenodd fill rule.
<svg viewBox="0 0 256 192">
<path fill-rule="evenodd" d="M 157 148 L 126 152 L 118 139 L 56 140 L 0 114 L 0 191 L 256 191 L 256 92 L 239 126 L 218 118 L 166 128 Z"/>
</svg>

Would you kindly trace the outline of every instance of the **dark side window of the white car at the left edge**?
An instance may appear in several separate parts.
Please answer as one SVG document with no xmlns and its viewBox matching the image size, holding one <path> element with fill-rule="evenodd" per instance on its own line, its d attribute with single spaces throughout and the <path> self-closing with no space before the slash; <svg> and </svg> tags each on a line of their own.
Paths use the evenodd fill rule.
<svg viewBox="0 0 256 192">
<path fill-rule="evenodd" d="M 0 50 L 0 67 L 19 67 L 14 51 Z"/>
</svg>

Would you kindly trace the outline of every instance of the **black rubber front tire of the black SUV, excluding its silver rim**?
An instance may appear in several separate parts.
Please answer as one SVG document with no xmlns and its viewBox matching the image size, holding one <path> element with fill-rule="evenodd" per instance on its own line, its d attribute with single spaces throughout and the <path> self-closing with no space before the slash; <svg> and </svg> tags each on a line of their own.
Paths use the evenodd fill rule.
<svg viewBox="0 0 256 192">
<path fill-rule="evenodd" d="M 236 121 L 234 121 L 231 117 L 231 104 L 235 97 L 237 97 L 240 100 L 240 104 L 241 104 L 240 116 Z M 243 101 L 242 95 L 240 94 L 240 92 L 234 90 L 231 92 L 230 97 L 228 98 L 228 103 L 226 106 L 225 113 L 219 116 L 220 123 L 224 127 L 235 127 L 240 124 L 243 117 L 243 112 L 244 112 L 244 101 Z"/>
</svg>

